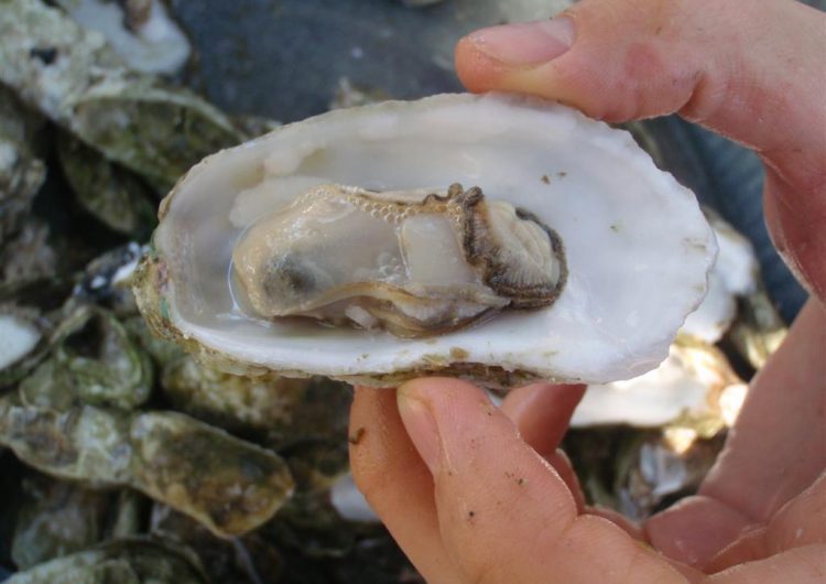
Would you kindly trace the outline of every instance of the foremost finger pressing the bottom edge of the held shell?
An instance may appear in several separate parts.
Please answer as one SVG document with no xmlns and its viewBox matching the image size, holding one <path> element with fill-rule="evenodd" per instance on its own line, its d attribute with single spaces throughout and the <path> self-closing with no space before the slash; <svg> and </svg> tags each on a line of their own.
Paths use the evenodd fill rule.
<svg viewBox="0 0 826 584">
<path fill-rule="evenodd" d="M 634 582 L 685 582 L 616 524 L 577 515 L 565 482 L 478 388 L 419 379 L 399 388 L 398 402 L 465 581 L 619 582 L 633 566 Z"/>
</svg>

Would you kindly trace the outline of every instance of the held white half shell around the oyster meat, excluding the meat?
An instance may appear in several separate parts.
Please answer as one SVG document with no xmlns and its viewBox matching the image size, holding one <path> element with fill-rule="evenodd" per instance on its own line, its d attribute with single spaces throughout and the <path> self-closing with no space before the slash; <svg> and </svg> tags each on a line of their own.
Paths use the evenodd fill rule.
<svg viewBox="0 0 826 584">
<path fill-rule="evenodd" d="M 251 317 L 233 295 L 239 238 L 303 193 L 453 183 L 524 208 L 558 234 L 567 281 L 552 305 L 402 339 Z M 501 386 L 641 375 L 665 358 L 703 299 L 717 250 L 693 194 L 628 133 L 563 106 L 497 95 L 391 101 L 285 126 L 204 160 L 160 215 L 135 284 L 156 332 L 232 372 L 373 386 L 435 372 Z"/>
</svg>

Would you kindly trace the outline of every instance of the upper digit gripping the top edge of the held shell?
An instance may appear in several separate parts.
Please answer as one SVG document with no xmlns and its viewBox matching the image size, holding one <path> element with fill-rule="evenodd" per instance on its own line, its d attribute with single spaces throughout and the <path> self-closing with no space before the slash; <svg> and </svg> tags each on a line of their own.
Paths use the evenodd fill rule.
<svg viewBox="0 0 826 584">
<path fill-rule="evenodd" d="M 584 0 L 552 21 L 472 33 L 456 68 L 474 91 L 608 121 L 680 112 L 752 148 L 770 170 L 775 241 L 826 298 L 824 54 L 826 15 L 792 0 Z"/>
</svg>

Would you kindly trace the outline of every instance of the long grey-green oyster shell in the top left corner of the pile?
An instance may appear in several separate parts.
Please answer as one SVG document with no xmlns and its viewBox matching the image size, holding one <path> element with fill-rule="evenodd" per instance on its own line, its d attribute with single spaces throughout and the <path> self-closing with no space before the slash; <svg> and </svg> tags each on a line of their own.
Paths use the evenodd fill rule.
<svg viewBox="0 0 826 584">
<path fill-rule="evenodd" d="M 0 82 L 161 190 L 200 158 L 243 139 L 217 108 L 131 71 L 100 33 L 40 0 L 4 0 L 0 37 Z"/>
</svg>

